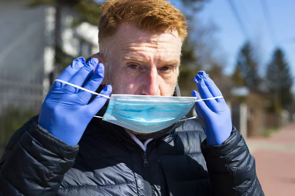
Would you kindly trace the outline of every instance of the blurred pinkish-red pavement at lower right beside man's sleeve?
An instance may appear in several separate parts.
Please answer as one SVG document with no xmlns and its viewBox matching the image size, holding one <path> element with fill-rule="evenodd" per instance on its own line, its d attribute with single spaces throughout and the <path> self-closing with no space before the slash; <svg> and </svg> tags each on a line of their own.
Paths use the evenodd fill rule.
<svg viewBox="0 0 295 196">
<path fill-rule="evenodd" d="M 248 139 L 256 172 L 266 196 L 295 196 L 295 123 L 271 138 Z"/>
</svg>

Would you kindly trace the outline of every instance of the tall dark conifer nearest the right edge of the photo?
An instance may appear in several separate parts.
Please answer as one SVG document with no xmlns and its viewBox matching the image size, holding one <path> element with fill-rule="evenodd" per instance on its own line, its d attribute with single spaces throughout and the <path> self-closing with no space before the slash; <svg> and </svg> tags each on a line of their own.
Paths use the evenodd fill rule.
<svg viewBox="0 0 295 196">
<path fill-rule="evenodd" d="M 268 92 L 273 95 L 273 110 L 280 107 L 288 109 L 293 102 L 293 77 L 282 49 L 275 49 L 267 65 L 266 84 Z"/>
</svg>

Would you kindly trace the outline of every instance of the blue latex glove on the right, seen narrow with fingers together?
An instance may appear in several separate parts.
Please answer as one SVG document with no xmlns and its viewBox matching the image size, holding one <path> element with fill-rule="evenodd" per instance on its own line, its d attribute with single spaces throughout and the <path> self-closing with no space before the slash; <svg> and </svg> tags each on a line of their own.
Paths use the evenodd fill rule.
<svg viewBox="0 0 295 196">
<path fill-rule="evenodd" d="M 204 71 L 198 72 L 194 79 L 202 98 L 222 96 L 220 90 Z M 201 99 L 200 95 L 192 92 L 193 97 Z M 232 132 L 231 111 L 223 98 L 196 102 L 196 112 L 205 123 L 207 145 L 220 145 L 226 141 Z"/>
</svg>

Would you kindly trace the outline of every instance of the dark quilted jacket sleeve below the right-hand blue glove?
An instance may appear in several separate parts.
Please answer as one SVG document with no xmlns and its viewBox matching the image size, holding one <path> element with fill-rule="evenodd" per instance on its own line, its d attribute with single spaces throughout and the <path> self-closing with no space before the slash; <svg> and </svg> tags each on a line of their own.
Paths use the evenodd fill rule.
<svg viewBox="0 0 295 196">
<path fill-rule="evenodd" d="M 214 196 L 264 196 L 255 159 L 235 127 L 221 145 L 209 147 L 205 140 L 201 148 Z"/>
</svg>

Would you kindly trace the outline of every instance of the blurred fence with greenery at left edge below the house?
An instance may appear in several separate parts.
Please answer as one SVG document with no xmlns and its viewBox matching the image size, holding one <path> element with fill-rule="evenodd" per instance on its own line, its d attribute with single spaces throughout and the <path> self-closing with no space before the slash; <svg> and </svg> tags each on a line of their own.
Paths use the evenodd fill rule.
<svg viewBox="0 0 295 196">
<path fill-rule="evenodd" d="M 40 111 L 43 86 L 0 80 L 0 155 L 11 135 Z"/>
</svg>

